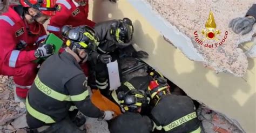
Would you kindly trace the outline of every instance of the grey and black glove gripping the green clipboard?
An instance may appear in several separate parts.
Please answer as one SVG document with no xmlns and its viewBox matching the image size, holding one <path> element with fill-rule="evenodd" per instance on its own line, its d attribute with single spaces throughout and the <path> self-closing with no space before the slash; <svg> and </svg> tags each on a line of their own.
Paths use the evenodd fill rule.
<svg viewBox="0 0 256 133">
<path fill-rule="evenodd" d="M 42 58 L 48 57 L 54 53 L 54 45 L 41 43 L 35 50 L 35 57 Z"/>
</svg>

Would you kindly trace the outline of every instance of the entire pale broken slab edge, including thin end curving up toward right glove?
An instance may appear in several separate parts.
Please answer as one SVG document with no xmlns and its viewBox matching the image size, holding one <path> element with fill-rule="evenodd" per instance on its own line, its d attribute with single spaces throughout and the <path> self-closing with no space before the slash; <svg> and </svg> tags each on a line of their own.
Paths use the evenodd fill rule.
<svg viewBox="0 0 256 133">
<path fill-rule="evenodd" d="M 160 34 L 163 36 L 165 40 L 169 40 L 167 42 L 171 42 L 174 47 L 179 48 L 181 52 L 191 61 L 198 61 L 207 64 L 207 66 L 210 66 L 211 68 L 214 68 L 216 73 L 219 72 L 225 72 L 225 73 L 230 73 L 231 75 L 235 77 L 243 77 L 246 73 L 240 73 L 239 75 L 234 73 L 232 70 L 225 68 L 225 67 L 220 67 L 218 64 L 214 62 L 207 62 L 203 55 L 200 54 L 200 51 L 198 51 L 196 48 L 193 46 L 192 39 L 188 38 L 188 36 L 184 33 L 181 33 L 179 29 L 176 26 L 173 26 L 171 23 L 169 23 L 166 19 L 160 16 L 159 13 L 154 11 L 151 7 L 151 5 L 146 2 L 145 0 L 140 0 L 140 1 L 133 1 L 133 0 L 127 0 L 135 9 L 142 14 L 142 16 L 149 21 L 149 23 L 157 29 L 157 31 L 160 32 Z M 173 31 L 173 32 L 170 32 Z M 252 34 L 252 33 L 250 33 Z M 250 40 L 251 37 L 246 36 L 246 40 L 244 40 L 245 36 L 242 36 L 241 39 L 238 42 L 239 44 L 241 42 L 244 42 L 246 40 Z M 177 39 L 178 38 L 178 39 Z M 172 41 L 170 41 L 172 40 Z M 187 45 L 184 45 L 187 44 Z M 237 48 L 237 50 L 241 50 L 241 53 L 244 53 L 242 49 Z M 246 57 L 245 54 L 243 56 Z M 248 61 L 247 61 L 248 62 Z M 248 66 L 247 66 L 248 67 Z"/>
</svg>

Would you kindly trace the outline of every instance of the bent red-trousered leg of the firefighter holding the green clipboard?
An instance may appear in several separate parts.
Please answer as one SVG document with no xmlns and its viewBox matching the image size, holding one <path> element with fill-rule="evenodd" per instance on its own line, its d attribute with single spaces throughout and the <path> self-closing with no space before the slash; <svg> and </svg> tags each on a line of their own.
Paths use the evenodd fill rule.
<svg viewBox="0 0 256 133">
<path fill-rule="evenodd" d="M 3 75 L 14 76 L 17 96 L 26 98 L 26 94 L 37 74 L 37 64 L 29 63 L 19 68 L 10 68 L 4 64 L 2 69 Z"/>
</svg>

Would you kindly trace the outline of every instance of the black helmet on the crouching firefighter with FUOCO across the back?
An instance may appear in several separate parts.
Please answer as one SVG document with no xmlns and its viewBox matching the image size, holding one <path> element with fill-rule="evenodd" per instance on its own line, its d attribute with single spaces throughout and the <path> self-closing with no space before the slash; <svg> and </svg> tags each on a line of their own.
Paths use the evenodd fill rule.
<svg viewBox="0 0 256 133">
<path fill-rule="evenodd" d="M 89 26 L 72 27 L 65 25 L 62 27 L 62 35 L 68 39 L 66 45 L 72 50 L 77 48 L 86 50 L 96 50 L 99 44 L 95 31 Z"/>
</svg>

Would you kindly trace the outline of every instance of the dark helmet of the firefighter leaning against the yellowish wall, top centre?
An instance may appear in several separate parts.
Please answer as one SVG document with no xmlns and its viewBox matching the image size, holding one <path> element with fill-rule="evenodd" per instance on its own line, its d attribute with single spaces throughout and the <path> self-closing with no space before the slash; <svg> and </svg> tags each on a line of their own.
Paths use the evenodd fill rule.
<svg viewBox="0 0 256 133">
<path fill-rule="evenodd" d="M 132 21 L 129 18 L 114 21 L 111 25 L 111 34 L 118 42 L 118 45 L 130 45 L 133 35 Z"/>
</svg>

